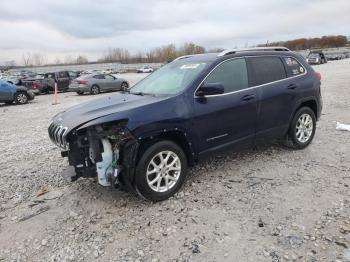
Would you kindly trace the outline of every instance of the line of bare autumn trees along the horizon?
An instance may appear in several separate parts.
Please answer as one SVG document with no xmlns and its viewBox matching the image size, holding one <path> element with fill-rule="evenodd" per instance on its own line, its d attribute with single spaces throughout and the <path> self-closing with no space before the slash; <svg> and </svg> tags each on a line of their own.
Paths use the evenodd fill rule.
<svg viewBox="0 0 350 262">
<path fill-rule="evenodd" d="M 306 50 L 313 48 L 332 48 L 349 45 L 346 36 L 322 36 L 316 38 L 300 38 L 289 41 L 267 42 L 257 45 L 263 46 L 285 46 L 291 50 Z M 248 45 L 247 45 L 248 47 Z M 208 49 L 193 42 L 185 43 L 181 46 L 174 44 L 163 45 L 153 48 L 147 52 L 137 52 L 132 54 L 125 48 L 109 48 L 104 54 L 94 62 L 90 62 L 84 55 L 72 57 L 65 56 L 63 59 L 57 57 L 53 63 L 48 63 L 46 55 L 40 53 L 25 53 L 22 55 L 22 64 L 24 66 L 43 66 L 43 65 L 67 65 L 67 64 L 87 64 L 87 63 L 163 63 L 170 62 L 176 57 L 183 55 L 202 54 L 220 52 L 222 48 Z M 14 62 L 11 61 L 13 64 Z M 12 65 L 11 64 L 11 65 Z"/>
</svg>

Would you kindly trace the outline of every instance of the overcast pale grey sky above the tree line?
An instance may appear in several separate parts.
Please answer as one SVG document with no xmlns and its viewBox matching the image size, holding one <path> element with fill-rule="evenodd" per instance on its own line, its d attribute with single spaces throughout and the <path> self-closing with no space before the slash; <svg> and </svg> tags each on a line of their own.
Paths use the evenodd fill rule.
<svg viewBox="0 0 350 262">
<path fill-rule="evenodd" d="M 193 41 L 205 47 L 350 35 L 349 0 L 0 0 L 0 64 L 49 61 L 109 47 L 131 52 Z"/>
</svg>

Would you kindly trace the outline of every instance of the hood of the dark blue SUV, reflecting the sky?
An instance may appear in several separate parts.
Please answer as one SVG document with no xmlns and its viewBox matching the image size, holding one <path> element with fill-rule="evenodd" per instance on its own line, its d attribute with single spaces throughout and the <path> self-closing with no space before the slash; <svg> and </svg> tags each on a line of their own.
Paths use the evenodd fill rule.
<svg viewBox="0 0 350 262">
<path fill-rule="evenodd" d="M 73 106 L 57 114 L 52 121 L 56 125 L 67 127 L 69 132 L 91 120 L 110 114 L 125 113 L 125 111 L 136 108 L 140 109 L 140 107 L 164 99 L 166 99 L 166 97 L 154 97 L 149 95 L 139 96 L 126 93 L 113 94 Z"/>
</svg>

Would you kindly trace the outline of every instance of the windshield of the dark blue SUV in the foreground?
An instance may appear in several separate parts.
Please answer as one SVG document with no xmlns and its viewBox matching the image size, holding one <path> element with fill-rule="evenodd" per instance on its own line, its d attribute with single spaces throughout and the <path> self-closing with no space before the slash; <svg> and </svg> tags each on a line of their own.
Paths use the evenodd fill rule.
<svg viewBox="0 0 350 262">
<path fill-rule="evenodd" d="M 163 66 L 130 89 L 130 93 L 175 95 L 184 90 L 207 63 L 175 61 Z"/>
</svg>

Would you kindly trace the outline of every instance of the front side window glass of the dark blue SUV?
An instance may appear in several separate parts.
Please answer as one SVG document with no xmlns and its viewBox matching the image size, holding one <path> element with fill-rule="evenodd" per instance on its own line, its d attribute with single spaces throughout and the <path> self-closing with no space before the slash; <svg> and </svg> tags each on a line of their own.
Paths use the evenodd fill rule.
<svg viewBox="0 0 350 262">
<path fill-rule="evenodd" d="M 245 59 L 238 58 L 222 63 L 205 79 L 204 83 L 221 83 L 225 93 L 248 87 L 248 74 Z"/>
</svg>

